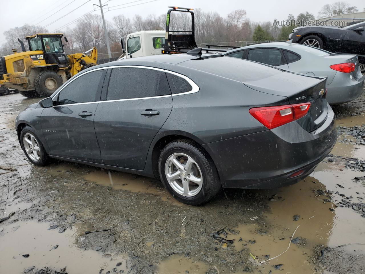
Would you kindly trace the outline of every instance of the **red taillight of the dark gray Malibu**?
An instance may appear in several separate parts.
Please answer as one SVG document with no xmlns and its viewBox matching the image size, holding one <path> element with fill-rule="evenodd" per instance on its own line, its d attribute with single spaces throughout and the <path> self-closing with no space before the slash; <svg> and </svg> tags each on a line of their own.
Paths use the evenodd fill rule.
<svg viewBox="0 0 365 274">
<path fill-rule="evenodd" d="M 311 103 L 288 104 L 275 107 L 254 107 L 249 111 L 262 125 L 273 129 L 306 116 L 310 106 Z"/>
</svg>

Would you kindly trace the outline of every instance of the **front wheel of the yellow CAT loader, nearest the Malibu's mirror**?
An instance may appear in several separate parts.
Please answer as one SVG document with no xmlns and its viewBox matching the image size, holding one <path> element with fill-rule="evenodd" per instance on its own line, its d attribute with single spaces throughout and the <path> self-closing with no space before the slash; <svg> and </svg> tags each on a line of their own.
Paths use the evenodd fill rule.
<svg viewBox="0 0 365 274">
<path fill-rule="evenodd" d="M 62 78 L 53 71 L 43 71 L 35 77 L 34 86 L 41 96 L 51 96 L 62 85 Z"/>
</svg>

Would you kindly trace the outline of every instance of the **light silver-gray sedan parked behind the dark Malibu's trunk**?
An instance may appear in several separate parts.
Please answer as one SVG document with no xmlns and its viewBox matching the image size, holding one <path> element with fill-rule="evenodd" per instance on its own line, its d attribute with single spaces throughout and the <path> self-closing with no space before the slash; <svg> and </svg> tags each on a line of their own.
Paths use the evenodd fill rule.
<svg viewBox="0 0 365 274">
<path fill-rule="evenodd" d="M 365 78 L 356 55 L 334 54 L 326 50 L 290 42 L 262 43 L 230 50 L 224 55 L 260 62 L 307 75 L 326 76 L 328 103 L 341 104 L 358 98 Z"/>
</svg>

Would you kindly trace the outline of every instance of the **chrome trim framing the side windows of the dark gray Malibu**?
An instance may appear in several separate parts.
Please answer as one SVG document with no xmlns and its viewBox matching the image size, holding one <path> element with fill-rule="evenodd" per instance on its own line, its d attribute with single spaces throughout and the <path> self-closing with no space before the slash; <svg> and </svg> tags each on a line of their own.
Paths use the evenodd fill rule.
<svg viewBox="0 0 365 274">
<path fill-rule="evenodd" d="M 176 73 L 173 71 L 168 71 L 166 69 L 160 69 L 160 68 L 154 68 L 152 66 L 138 66 L 138 65 L 118 65 L 118 66 L 105 66 L 103 68 L 96 68 L 96 69 L 92 69 L 91 71 L 85 72 L 85 73 L 81 73 L 80 75 L 78 75 L 77 77 L 75 77 L 74 79 L 72 79 L 72 81 L 70 81 L 67 85 L 65 85 L 64 87 L 62 87 L 61 90 L 59 90 L 53 97 L 52 99 L 54 99 L 59 92 L 61 92 L 65 87 L 67 87 L 70 83 L 72 83 L 74 80 L 76 80 L 78 77 L 81 77 L 82 75 L 85 75 L 89 72 L 93 72 L 93 71 L 98 71 L 100 69 L 109 69 L 109 68 L 144 68 L 144 69 L 153 69 L 155 71 L 162 71 L 165 73 L 171 73 L 173 75 L 176 75 L 178 77 L 181 77 L 183 79 L 185 79 L 192 87 L 191 91 L 187 91 L 187 92 L 182 92 L 182 93 L 177 93 L 177 94 L 169 94 L 169 95 L 161 95 L 161 96 L 152 96 L 152 97 L 141 97 L 141 98 L 128 98 L 128 99 L 116 99 L 116 100 L 105 100 L 105 101 L 95 101 L 95 102 L 85 102 L 85 103 L 74 103 L 74 104 L 61 104 L 58 106 L 53 106 L 53 107 L 62 107 L 62 106 L 75 106 L 75 105 L 79 105 L 79 104 L 96 104 L 96 103 L 106 103 L 106 102 L 119 102 L 119 101 L 131 101 L 131 100 L 144 100 L 144 99 L 153 99 L 153 98 L 166 98 L 166 97 L 172 97 L 172 96 L 178 96 L 178 95 L 185 95 L 185 94 L 192 94 L 192 93 L 196 93 L 199 91 L 199 86 L 197 84 L 195 84 L 195 82 L 193 80 L 191 80 L 189 77 L 182 75 L 180 73 Z"/>
</svg>

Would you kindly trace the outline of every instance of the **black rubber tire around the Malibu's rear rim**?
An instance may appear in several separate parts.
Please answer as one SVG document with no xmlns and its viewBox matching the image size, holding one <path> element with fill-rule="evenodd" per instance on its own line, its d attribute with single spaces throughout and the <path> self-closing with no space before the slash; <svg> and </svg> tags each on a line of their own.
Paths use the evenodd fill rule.
<svg viewBox="0 0 365 274">
<path fill-rule="evenodd" d="M 184 153 L 199 165 L 201 177 L 203 178 L 203 186 L 199 193 L 194 196 L 186 197 L 177 193 L 170 186 L 166 178 L 165 164 L 168 158 L 174 153 Z M 215 164 L 208 155 L 205 155 L 199 145 L 190 140 L 176 140 L 167 144 L 164 149 L 162 149 L 160 158 L 158 159 L 158 172 L 161 182 L 173 197 L 187 205 L 203 205 L 210 201 L 222 189 Z"/>
</svg>

